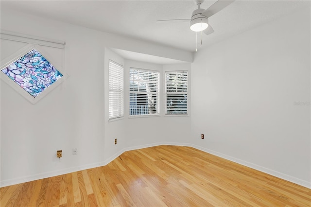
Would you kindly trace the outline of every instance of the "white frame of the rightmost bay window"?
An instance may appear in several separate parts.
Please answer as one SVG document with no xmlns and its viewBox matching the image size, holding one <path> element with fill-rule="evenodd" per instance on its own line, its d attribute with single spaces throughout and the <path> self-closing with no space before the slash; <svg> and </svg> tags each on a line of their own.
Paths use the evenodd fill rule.
<svg viewBox="0 0 311 207">
<path fill-rule="evenodd" d="M 183 73 L 186 72 L 187 74 L 187 91 L 186 92 L 167 92 L 167 74 L 169 73 Z M 182 116 L 182 117 L 186 117 L 189 116 L 189 70 L 167 70 L 164 71 L 164 96 L 165 96 L 165 116 Z M 168 94 L 176 94 L 176 95 L 180 95 L 180 94 L 186 94 L 187 96 L 187 106 L 186 106 L 186 113 L 167 113 L 168 108 L 167 108 L 167 95 Z"/>
</svg>

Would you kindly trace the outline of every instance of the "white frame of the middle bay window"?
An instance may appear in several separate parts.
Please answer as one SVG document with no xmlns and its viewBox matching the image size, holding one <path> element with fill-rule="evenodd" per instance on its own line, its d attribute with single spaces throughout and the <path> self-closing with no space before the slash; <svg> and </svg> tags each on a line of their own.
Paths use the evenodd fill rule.
<svg viewBox="0 0 311 207">
<path fill-rule="evenodd" d="M 157 80 L 156 80 L 156 84 L 157 84 L 157 91 L 156 92 L 145 92 L 145 91 L 131 91 L 131 81 L 134 81 L 134 79 L 131 79 L 131 70 L 138 70 L 138 71 L 147 71 L 147 72 L 154 72 L 157 74 Z M 135 68 L 135 67 L 130 67 L 129 70 L 129 118 L 139 118 L 139 117 L 156 117 L 156 116 L 160 116 L 160 95 L 161 95 L 161 91 L 160 91 L 160 75 L 161 72 L 160 70 L 153 70 L 153 69 L 140 69 L 140 68 Z M 150 81 L 141 81 L 144 83 L 150 83 Z M 130 112 L 130 108 L 131 108 L 131 94 L 134 92 L 134 94 L 156 94 L 156 113 L 152 113 L 152 114 L 132 114 Z M 136 93 L 135 93 L 136 92 Z M 147 99 L 148 101 L 148 99 Z"/>
</svg>

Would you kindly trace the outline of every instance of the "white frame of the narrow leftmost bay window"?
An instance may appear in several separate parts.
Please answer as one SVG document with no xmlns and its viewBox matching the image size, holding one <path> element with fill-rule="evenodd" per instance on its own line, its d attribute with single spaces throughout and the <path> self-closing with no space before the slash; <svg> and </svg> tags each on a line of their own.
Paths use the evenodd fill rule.
<svg viewBox="0 0 311 207">
<path fill-rule="evenodd" d="M 121 75 L 118 77 L 119 80 L 115 80 L 116 82 L 121 81 L 121 88 L 120 86 L 116 86 L 117 89 L 111 88 L 111 83 L 110 83 L 110 63 L 120 67 L 122 69 L 121 71 Z M 119 71 L 120 72 L 120 71 Z M 121 94 L 120 100 L 119 100 L 119 109 L 118 109 L 118 115 L 117 116 L 112 116 L 110 117 L 110 92 L 118 92 L 119 94 Z M 111 59 L 108 59 L 108 118 L 109 121 L 114 121 L 114 120 L 118 120 L 118 119 L 122 119 L 124 118 L 124 66 L 122 66 L 121 64 L 117 63 L 116 61 L 113 61 Z"/>
</svg>

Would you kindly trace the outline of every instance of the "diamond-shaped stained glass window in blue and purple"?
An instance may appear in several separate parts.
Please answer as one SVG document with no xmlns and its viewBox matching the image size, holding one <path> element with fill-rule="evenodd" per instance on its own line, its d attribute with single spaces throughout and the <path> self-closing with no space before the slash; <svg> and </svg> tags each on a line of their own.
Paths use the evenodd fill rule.
<svg viewBox="0 0 311 207">
<path fill-rule="evenodd" d="M 63 76 L 35 49 L 1 71 L 34 98 Z"/>
</svg>

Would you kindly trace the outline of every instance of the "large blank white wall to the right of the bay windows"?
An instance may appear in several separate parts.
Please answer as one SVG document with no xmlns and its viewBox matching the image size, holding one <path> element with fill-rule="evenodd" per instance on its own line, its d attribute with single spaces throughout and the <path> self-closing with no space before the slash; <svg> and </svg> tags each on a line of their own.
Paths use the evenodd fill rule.
<svg viewBox="0 0 311 207">
<path fill-rule="evenodd" d="M 193 144 L 310 188 L 310 19 L 309 7 L 197 52 Z"/>
</svg>

